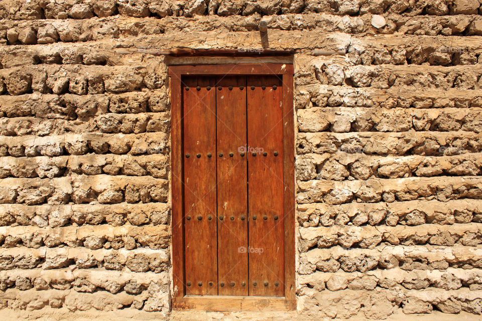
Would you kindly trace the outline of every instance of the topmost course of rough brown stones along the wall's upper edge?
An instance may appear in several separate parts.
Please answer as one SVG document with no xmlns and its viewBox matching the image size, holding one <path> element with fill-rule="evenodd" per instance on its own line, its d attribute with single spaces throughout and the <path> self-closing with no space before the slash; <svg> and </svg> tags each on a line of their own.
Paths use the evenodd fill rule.
<svg viewBox="0 0 482 321">
<path fill-rule="evenodd" d="M 365 14 L 403 14 L 405 16 L 417 16 L 428 14 L 433 16 L 443 15 L 477 15 L 482 13 L 480 3 L 475 1 L 444 0 L 441 2 L 427 1 L 411 4 L 407 1 L 387 1 L 384 6 L 379 2 L 350 2 L 334 1 L 324 3 L 319 0 L 308 1 L 287 1 L 265 3 L 255 0 L 247 3 L 236 3 L 230 1 L 193 1 L 185 0 L 176 3 L 137 1 L 125 3 L 122 1 L 111 2 L 86 2 L 65 3 L 50 2 L 48 4 L 40 1 L 32 1 L 18 6 L 16 9 L 9 9 L 7 6 L 0 7 L 2 18 L 14 20 L 34 19 L 89 19 L 91 17 L 109 17 L 116 14 L 129 17 L 193 17 L 195 15 L 217 15 L 221 17 L 255 14 L 282 15 L 288 13 L 328 13 L 334 15 L 365 15 Z"/>
</svg>

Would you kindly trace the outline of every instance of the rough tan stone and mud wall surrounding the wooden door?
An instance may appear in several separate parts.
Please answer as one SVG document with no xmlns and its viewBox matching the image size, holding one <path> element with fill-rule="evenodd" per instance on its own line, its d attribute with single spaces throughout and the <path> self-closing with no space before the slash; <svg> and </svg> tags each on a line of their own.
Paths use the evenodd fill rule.
<svg viewBox="0 0 482 321">
<path fill-rule="evenodd" d="M 264 46 L 297 51 L 298 317 L 481 314 L 480 15 L 480 0 L 0 1 L 0 307 L 168 318 L 160 51 Z"/>
</svg>

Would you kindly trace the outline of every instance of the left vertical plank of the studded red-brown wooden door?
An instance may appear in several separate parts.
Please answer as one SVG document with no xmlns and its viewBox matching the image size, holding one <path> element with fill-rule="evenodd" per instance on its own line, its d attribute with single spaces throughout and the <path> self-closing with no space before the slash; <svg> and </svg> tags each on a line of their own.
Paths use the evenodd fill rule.
<svg viewBox="0 0 482 321">
<path fill-rule="evenodd" d="M 216 150 L 216 97 L 207 89 L 215 79 L 186 77 L 183 83 L 186 294 L 216 295 L 216 157 L 207 156 Z"/>
</svg>

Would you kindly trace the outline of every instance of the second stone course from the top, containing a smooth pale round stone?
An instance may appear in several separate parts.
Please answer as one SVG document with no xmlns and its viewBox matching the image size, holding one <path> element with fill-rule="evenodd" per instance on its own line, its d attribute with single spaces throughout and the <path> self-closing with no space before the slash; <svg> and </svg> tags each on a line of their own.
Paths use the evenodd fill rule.
<svg viewBox="0 0 482 321">
<path fill-rule="evenodd" d="M 474 0 L 475 2 L 477 0 Z M 377 6 L 380 6 L 377 4 Z M 147 11 L 149 13 L 149 11 Z M 0 13 L 1 15 L 1 13 Z M 179 31 L 185 25 L 197 27 L 200 31 L 211 31 L 213 25 L 222 25 L 227 31 L 243 32 L 259 30 L 259 15 L 251 17 L 202 17 L 153 19 L 143 16 L 135 18 L 89 18 L 88 20 L 57 20 L 46 21 L 32 19 L 31 21 L 7 20 L 3 28 L 2 42 L 12 45 L 51 44 L 57 41 L 78 42 L 95 41 L 102 38 L 119 38 L 138 35 L 166 34 Z M 67 17 L 65 17 L 67 18 Z M 137 19 L 136 19 L 137 18 Z M 375 21 L 374 21 L 375 19 Z M 135 21 L 133 23 L 133 20 Z M 137 20 L 137 21 L 136 21 Z M 376 21 L 380 21 L 380 24 Z M 103 26 L 99 27 L 99 22 Z M 479 15 L 457 14 L 453 16 L 420 16 L 388 14 L 383 17 L 371 13 L 360 17 L 344 15 L 340 17 L 333 13 L 306 13 L 264 18 L 270 29 L 275 30 L 306 30 L 318 28 L 324 32 L 344 32 L 347 34 L 409 34 L 428 36 L 451 35 L 481 35 Z"/>
</svg>

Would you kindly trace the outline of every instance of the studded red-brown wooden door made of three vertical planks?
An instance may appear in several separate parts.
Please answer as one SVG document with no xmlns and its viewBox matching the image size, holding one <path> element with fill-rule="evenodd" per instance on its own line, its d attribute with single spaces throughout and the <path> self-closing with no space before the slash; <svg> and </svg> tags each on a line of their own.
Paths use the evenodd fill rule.
<svg viewBox="0 0 482 321">
<path fill-rule="evenodd" d="M 285 220 L 294 212 L 286 196 L 294 191 L 286 183 L 293 159 L 286 164 L 285 150 L 293 153 L 284 141 L 284 90 L 282 75 L 184 75 L 173 90 L 181 96 L 173 148 L 182 157 L 180 167 L 173 161 L 173 225 L 174 216 L 180 225 L 173 234 L 182 232 L 173 256 L 183 267 L 177 290 L 187 296 L 285 297 L 294 290 L 285 271 L 292 236 Z"/>
</svg>

